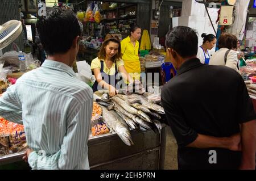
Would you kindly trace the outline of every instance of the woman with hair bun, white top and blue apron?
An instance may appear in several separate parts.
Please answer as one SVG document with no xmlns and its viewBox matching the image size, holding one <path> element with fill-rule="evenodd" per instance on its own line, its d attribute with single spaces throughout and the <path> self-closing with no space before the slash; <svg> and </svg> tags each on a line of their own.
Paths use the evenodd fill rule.
<svg viewBox="0 0 256 181">
<path fill-rule="evenodd" d="M 210 54 L 208 50 L 211 50 L 216 45 L 217 39 L 213 34 L 207 35 L 206 33 L 203 33 L 201 37 L 203 37 L 204 41 L 197 51 L 197 58 L 200 59 L 202 64 L 209 64 Z"/>
</svg>

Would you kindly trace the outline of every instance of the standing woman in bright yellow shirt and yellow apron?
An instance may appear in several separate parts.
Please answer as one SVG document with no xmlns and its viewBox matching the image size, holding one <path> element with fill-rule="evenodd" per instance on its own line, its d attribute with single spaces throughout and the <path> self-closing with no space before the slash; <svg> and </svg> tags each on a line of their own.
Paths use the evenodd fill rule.
<svg viewBox="0 0 256 181">
<path fill-rule="evenodd" d="M 140 38 L 141 28 L 138 25 L 134 25 L 131 26 L 130 35 L 121 41 L 122 59 L 125 63 L 125 69 L 136 80 L 139 80 L 141 73 L 138 41 Z"/>
</svg>

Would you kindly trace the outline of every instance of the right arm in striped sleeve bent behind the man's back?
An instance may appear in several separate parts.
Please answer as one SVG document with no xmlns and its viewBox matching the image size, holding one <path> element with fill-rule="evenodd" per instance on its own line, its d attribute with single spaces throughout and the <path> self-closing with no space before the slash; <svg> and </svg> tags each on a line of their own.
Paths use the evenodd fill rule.
<svg viewBox="0 0 256 181">
<path fill-rule="evenodd" d="M 80 104 L 69 116 L 67 134 L 61 149 L 53 155 L 44 155 L 32 151 L 28 163 L 32 169 L 74 169 L 82 161 L 82 155 L 88 154 L 84 149 L 89 136 L 92 116 L 92 100 Z"/>
</svg>

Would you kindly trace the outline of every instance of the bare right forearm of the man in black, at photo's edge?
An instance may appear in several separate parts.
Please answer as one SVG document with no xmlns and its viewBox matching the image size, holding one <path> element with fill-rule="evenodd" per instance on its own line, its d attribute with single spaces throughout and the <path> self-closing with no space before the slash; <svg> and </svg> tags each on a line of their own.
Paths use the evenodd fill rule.
<svg viewBox="0 0 256 181">
<path fill-rule="evenodd" d="M 255 169 L 256 120 L 242 123 L 242 163 L 240 169 Z"/>
</svg>

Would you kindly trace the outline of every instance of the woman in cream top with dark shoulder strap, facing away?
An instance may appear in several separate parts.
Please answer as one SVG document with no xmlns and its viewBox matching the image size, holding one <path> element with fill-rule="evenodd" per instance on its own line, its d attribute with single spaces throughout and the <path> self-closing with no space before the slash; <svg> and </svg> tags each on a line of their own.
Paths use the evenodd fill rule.
<svg viewBox="0 0 256 181">
<path fill-rule="evenodd" d="M 209 65 L 225 65 L 240 73 L 237 56 L 237 37 L 230 33 L 222 33 L 218 39 L 219 50 L 213 53 Z"/>
</svg>

